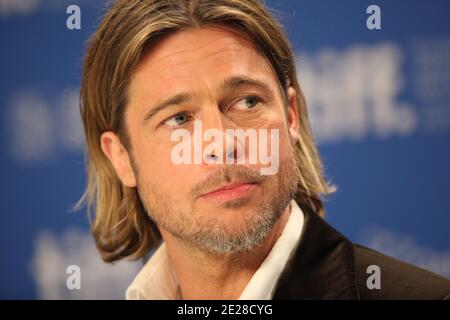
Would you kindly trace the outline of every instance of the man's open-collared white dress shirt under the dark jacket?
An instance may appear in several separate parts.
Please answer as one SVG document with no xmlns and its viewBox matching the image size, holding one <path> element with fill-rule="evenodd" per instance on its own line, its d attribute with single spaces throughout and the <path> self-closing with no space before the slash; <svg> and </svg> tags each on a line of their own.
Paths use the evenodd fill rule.
<svg viewBox="0 0 450 320">
<path fill-rule="evenodd" d="M 303 229 L 304 215 L 295 200 L 291 200 L 288 222 L 258 270 L 253 274 L 240 300 L 269 300 L 287 261 L 295 251 Z M 128 300 L 181 299 L 178 280 L 170 265 L 163 242 L 144 265 L 126 291 Z"/>
</svg>

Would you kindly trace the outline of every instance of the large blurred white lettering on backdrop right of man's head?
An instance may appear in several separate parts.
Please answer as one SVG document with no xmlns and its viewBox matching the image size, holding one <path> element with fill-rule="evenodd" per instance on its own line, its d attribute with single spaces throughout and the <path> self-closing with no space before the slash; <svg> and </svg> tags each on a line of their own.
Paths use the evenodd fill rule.
<svg viewBox="0 0 450 320">
<path fill-rule="evenodd" d="M 412 134 L 417 116 L 399 98 L 404 85 L 401 66 L 402 52 L 390 43 L 300 56 L 299 79 L 318 142 Z"/>
</svg>

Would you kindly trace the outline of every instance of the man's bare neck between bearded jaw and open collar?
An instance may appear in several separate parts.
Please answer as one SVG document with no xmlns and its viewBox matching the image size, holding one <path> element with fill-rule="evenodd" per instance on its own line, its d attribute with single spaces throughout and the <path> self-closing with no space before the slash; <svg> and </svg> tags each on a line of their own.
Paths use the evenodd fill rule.
<svg viewBox="0 0 450 320">
<path fill-rule="evenodd" d="M 269 235 L 248 252 L 212 254 L 186 246 L 161 229 L 183 299 L 238 299 L 280 237 L 290 214 L 288 206 Z"/>
</svg>

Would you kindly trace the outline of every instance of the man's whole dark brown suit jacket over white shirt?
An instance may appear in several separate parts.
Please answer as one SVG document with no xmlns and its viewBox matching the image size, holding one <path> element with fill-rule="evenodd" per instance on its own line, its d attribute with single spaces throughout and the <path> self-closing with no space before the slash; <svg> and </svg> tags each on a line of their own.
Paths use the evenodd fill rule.
<svg viewBox="0 0 450 320">
<path fill-rule="evenodd" d="M 295 252 L 273 299 L 450 299 L 450 280 L 355 245 L 310 209 Z M 367 267 L 381 271 L 381 289 L 368 289 Z"/>
</svg>

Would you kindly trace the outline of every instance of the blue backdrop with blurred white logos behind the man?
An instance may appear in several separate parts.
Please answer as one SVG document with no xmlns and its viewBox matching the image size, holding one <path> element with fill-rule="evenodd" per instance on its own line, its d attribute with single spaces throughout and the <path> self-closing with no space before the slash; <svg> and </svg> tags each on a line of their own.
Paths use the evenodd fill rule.
<svg viewBox="0 0 450 320">
<path fill-rule="evenodd" d="M 286 27 L 350 239 L 450 277 L 450 1 L 266 1 Z M 70 4 L 81 30 L 66 26 Z M 366 26 L 376 4 L 381 29 Z M 84 211 L 78 90 L 103 1 L 0 0 L 0 298 L 122 298 Z M 81 289 L 66 286 L 69 265 Z"/>
</svg>

